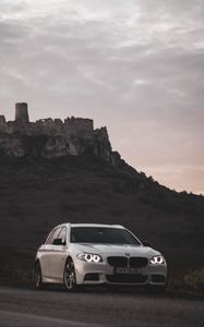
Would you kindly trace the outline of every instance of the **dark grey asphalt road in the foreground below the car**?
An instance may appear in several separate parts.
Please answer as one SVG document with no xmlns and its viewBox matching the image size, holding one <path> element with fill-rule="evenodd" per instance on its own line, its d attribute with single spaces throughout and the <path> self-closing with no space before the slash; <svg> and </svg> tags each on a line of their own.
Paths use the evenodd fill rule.
<svg viewBox="0 0 204 327">
<path fill-rule="evenodd" d="M 204 326 L 204 303 L 141 291 L 0 287 L 0 326 Z"/>
</svg>

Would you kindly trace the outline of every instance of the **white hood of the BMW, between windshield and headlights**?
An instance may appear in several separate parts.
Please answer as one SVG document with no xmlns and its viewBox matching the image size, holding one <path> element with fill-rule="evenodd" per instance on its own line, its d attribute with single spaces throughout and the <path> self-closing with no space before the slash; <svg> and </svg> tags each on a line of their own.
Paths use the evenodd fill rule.
<svg viewBox="0 0 204 327">
<path fill-rule="evenodd" d="M 76 243 L 75 243 L 76 245 Z M 87 244 L 87 243 L 77 243 L 77 250 L 86 253 L 96 253 L 96 254 L 108 254 L 108 255 L 131 255 L 131 256 L 149 256 L 158 255 L 159 252 L 155 251 L 152 247 L 143 245 L 128 245 L 128 244 Z"/>
</svg>

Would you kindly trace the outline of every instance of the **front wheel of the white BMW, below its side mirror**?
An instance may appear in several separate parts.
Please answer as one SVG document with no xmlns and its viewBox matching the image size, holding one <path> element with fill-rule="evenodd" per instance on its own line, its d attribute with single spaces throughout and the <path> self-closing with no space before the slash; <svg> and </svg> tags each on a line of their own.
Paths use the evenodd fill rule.
<svg viewBox="0 0 204 327">
<path fill-rule="evenodd" d="M 75 277 L 75 268 L 74 263 L 70 258 L 67 261 L 63 272 L 63 283 L 68 291 L 73 292 L 76 290 L 76 277 Z"/>
</svg>

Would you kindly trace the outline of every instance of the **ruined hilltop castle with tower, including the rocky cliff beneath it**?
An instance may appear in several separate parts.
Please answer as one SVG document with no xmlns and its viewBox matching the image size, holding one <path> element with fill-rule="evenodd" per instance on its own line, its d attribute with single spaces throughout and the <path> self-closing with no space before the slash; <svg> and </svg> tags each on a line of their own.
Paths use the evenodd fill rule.
<svg viewBox="0 0 204 327">
<path fill-rule="evenodd" d="M 27 104 L 15 105 L 15 120 L 0 116 L 0 153 L 10 157 L 56 158 L 92 154 L 116 164 L 106 128 L 94 129 L 92 119 L 51 118 L 29 121 Z"/>
</svg>

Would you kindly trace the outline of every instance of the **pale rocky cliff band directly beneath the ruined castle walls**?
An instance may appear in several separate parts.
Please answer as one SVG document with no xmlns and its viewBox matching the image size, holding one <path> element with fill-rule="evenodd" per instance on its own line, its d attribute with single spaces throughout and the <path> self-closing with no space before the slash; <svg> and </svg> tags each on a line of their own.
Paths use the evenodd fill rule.
<svg viewBox="0 0 204 327">
<path fill-rule="evenodd" d="M 89 137 L 74 135 L 27 135 L 21 131 L 14 133 L 0 132 L 0 150 L 15 158 L 59 158 L 93 154 L 112 164 L 117 154 L 111 152 L 106 128 L 93 131 Z"/>
</svg>

